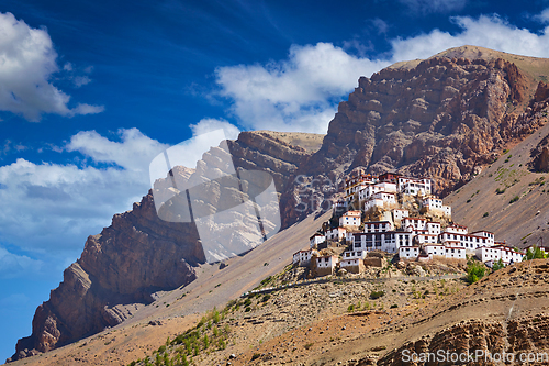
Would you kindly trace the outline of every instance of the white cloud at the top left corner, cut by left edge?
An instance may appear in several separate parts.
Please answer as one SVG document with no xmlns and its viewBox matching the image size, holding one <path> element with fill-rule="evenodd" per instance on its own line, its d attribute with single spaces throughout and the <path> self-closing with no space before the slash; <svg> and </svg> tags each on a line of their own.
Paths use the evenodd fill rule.
<svg viewBox="0 0 549 366">
<path fill-rule="evenodd" d="M 40 121 L 44 113 L 72 117 L 90 111 L 70 109 L 70 96 L 49 81 L 59 68 L 57 53 L 45 30 L 32 29 L 11 13 L 0 13 L 0 110 L 33 122 Z M 70 63 L 64 65 L 64 70 L 71 69 Z"/>
</svg>

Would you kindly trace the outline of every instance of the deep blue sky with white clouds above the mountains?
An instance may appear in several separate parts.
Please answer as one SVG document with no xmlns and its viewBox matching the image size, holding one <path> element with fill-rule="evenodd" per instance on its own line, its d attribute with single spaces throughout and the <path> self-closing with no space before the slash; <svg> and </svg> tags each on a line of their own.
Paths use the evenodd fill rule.
<svg viewBox="0 0 549 366">
<path fill-rule="evenodd" d="M 225 127 L 323 133 L 397 60 L 473 44 L 549 57 L 529 1 L 0 2 L 0 358 L 148 164 Z M 2 358 L 3 357 L 3 358 Z"/>
</svg>

